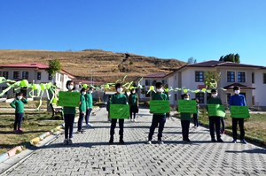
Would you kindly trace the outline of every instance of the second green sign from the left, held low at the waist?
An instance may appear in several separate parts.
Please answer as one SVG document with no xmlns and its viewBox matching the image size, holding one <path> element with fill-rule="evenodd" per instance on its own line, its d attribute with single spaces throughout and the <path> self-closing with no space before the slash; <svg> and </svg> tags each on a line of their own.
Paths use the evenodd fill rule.
<svg viewBox="0 0 266 176">
<path fill-rule="evenodd" d="M 111 119 L 129 119 L 129 104 L 110 104 Z"/>
</svg>

